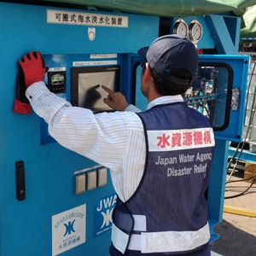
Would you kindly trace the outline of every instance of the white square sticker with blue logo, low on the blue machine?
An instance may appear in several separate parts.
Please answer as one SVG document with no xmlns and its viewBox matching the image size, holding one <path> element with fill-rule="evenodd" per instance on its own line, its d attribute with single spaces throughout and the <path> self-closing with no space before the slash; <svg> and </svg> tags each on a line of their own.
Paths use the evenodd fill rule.
<svg viewBox="0 0 256 256">
<path fill-rule="evenodd" d="M 52 216 L 52 255 L 85 242 L 86 205 Z"/>
</svg>

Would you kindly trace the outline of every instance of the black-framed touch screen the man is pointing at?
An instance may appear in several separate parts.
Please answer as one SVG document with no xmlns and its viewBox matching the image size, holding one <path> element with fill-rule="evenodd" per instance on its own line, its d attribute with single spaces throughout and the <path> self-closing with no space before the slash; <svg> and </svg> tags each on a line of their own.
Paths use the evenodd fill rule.
<svg viewBox="0 0 256 256">
<path fill-rule="evenodd" d="M 89 108 L 94 113 L 112 110 L 103 102 L 108 93 L 102 85 L 119 90 L 119 67 L 73 67 L 72 77 L 73 106 Z"/>
</svg>

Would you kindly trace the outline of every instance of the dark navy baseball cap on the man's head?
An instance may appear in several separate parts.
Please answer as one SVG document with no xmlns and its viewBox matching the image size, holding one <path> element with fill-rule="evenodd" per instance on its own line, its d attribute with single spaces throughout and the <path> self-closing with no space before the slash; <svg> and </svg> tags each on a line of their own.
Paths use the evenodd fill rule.
<svg viewBox="0 0 256 256">
<path fill-rule="evenodd" d="M 198 54 L 195 45 L 188 39 L 177 35 L 166 35 L 154 40 L 149 47 L 138 50 L 146 58 L 149 66 L 161 78 L 176 84 L 189 85 L 195 78 L 198 67 Z M 178 79 L 172 71 L 186 68 L 191 79 Z"/>
</svg>

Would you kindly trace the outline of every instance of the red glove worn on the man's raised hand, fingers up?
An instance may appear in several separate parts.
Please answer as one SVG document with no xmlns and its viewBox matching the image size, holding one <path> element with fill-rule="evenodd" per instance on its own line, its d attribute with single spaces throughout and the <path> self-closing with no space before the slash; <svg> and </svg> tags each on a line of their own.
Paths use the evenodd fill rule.
<svg viewBox="0 0 256 256">
<path fill-rule="evenodd" d="M 19 65 L 25 76 L 26 87 L 35 82 L 43 81 L 46 67 L 40 52 L 29 52 L 24 55 L 19 61 Z"/>
</svg>

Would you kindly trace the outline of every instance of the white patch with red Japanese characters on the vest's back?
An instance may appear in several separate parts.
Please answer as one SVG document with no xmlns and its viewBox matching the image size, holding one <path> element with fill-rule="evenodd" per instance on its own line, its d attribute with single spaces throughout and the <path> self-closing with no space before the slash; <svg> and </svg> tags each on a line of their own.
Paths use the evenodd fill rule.
<svg viewBox="0 0 256 256">
<path fill-rule="evenodd" d="M 212 128 L 148 131 L 149 151 L 172 151 L 214 146 Z"/>
</svg>

